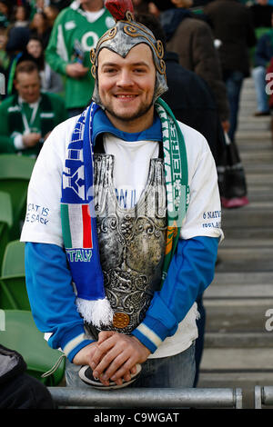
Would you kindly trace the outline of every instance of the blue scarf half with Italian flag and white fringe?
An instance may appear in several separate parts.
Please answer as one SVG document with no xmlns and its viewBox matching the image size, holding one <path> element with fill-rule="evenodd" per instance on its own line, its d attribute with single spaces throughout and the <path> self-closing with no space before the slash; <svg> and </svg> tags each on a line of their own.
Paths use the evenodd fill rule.
<svg viewBox="0 0 273 427">
<path fill-rule="evenodd" d="M 99 260 L 93 197 L 91 134 L 98 108 L 93 103 L 81 114 L 68 145 L 63 172 L 61 220 L 67 260 L 76 285 L 78 311 L 88 323 L 100 326 L 111 322 L 112 312 L 106 300 Z"/>
</svg>

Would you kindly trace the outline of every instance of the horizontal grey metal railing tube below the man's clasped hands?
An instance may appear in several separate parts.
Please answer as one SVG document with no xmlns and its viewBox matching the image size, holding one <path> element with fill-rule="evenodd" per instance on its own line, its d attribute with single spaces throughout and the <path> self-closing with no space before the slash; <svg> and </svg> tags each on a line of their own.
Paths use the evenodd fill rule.
<svg viewBox="0 0 273 427">
<path fill-rule="evenodd" d="M 240 388 L 120 389 L 48 387 L 58 406 L 100 408 L 242 408 Z"/>
</svg>

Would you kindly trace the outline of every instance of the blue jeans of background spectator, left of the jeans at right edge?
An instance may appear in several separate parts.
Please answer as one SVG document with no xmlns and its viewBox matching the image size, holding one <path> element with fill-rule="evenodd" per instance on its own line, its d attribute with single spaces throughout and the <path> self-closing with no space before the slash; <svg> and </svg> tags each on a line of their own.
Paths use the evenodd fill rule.
<svg viewBox="0 0 273 427">
<path fill-rule="evenodd" d="M 244 74 L 240 71 L 232 71 L 224 73 L 224 80 L 227 87 L 227 99 L 230 108 L 229 116 L 229 131 L 228 136 L 231 141 L 234 141 L 234 136 L 238 124 L 238 109 L 241 87 L 244 80 Z"/>
</svg>

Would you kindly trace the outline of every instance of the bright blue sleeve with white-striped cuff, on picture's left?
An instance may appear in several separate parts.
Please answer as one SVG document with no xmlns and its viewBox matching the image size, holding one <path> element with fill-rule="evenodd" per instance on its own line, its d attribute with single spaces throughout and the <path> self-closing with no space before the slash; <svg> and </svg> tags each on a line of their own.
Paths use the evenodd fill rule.
<svg viewBox="0 0 273 427">
<path fill-rule="evenodd" d="M 25 280 L 37 328 L 49 333 L 48 344 L 60 348 L 70 362 L 87 344 L 84 321 L 76 310 L 76 295 L 66 253 L 48 243 L 25 243 Z"/>
</svg>

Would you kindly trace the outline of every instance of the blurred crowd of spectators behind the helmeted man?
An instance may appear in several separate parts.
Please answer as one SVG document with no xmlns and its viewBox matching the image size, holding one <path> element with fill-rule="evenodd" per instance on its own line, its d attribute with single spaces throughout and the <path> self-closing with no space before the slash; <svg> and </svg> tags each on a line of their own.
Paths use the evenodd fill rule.
<svg viewBox="0 0 273 427">
<path fill-rule="evenodd" d="M 207 138 L 223 206 L 248 204 L 236 144 L 240 94 L 252 76 L 253 115 L 271 114 L 273 0 L 132 2 L 140 22 L 159 28 L 169 88 L 164 98 L 178 120 Z M 94 88 L 90 49 L 113 25 L 103 0 L 0 0 L 0 153 L 37 155 L 50 126 L 86 108 Z M 46 121 L 48 114 L 54 119 Z"/>
</svg>

